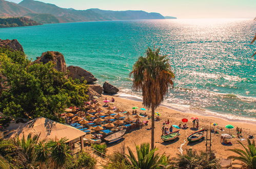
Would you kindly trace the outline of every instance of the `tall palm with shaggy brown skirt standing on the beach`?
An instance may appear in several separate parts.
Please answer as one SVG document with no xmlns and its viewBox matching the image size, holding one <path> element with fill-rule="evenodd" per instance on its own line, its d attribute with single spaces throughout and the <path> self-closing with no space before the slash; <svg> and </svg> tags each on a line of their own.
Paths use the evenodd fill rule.
<svg viewBox="0 0 256 169">
<path fill-rule="evenodd" d="M 143 105 L 151 107 L 151 149 L 154 148 L 154 110 L 163 101 L 168 88 L 173 87 L 174 79 L 167 55 L 162 56 L 159 52 L 160 48 L 153 51 L 148 48 L 146 56 L 140 56 L 130 72 L 133 76 L 132 89 L 142 90 Z"/>
</svg>

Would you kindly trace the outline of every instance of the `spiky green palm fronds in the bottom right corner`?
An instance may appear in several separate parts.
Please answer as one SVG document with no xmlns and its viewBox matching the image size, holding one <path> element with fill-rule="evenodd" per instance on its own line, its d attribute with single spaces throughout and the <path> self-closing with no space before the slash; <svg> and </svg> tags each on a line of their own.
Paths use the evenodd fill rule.
<svg viewBox="0 0 256 169">
<path fill-rule="evenodd" d="M 238 141 L 244 147 L 244 150 L 228 149 L 227 151 L 231 151 L 239 155 L 239 156 L 229 156 L 228 158 L 242 161 L 243 163 L 245 163 L 247 168 L 256 168 L 255 142 L 254 140 L 251 142 L 249 139 L 247 139 L 247 141 L 248 141 L 248 145 L 247 145 L 248 148 L 246 148 L 242 142 Z"/>
</svg>

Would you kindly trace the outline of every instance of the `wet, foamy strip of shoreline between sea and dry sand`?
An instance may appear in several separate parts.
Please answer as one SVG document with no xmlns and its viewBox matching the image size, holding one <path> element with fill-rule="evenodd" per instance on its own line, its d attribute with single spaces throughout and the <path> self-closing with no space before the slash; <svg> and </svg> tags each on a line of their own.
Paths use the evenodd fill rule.
<svg viewBox="0 0 256 169">
<path fill-rule="evenodd" d="M 119 98 L 124 98 L 127 100 L 142 102 L 142 97 L 128 94 L 128 93 L 121 92 L 121 93 L 117 93 L 113 96 L 119 97 Z M 177 104 L 177 106 L 179 106 L 179 105 Z M 167 108 L 170 110 L 174 110 L 174 111 L 178 111 L 178 112 L 186 113 L 186 114 L 194 114 L 194 115 L 205 116 L 205 117 L 219 118 L 219 119 L 224 119 L 224 120 L 231 121 L 231 122 L 242 122 L 242 123 L 251 123 L 251 124 L 256 123 L 256 118 L 241 117 L 241 116 L 232 115 L 232 114 L 228 114 L 228 113 L 221 114 L 221 113 L 212 112 L 212 111 L 208 111 L 208 110 L 191 109 L 191 108 L 189 108 L 189 105 L 183 105 L 183 106 L 184 106 L 184 110 L 175 108 L 173 105 L 168 105 L 166 103 L 160 104 L 160 107 L 164 107 L 164 108 Z M 188 107 L 187 110 L 185 110 L 186 106 Z"/>
</svg>

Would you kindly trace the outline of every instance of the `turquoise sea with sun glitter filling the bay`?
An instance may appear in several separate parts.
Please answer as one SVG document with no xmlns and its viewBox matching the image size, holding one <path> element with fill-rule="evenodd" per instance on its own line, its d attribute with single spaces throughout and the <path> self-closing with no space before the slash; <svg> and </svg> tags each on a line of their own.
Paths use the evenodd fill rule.
<svg viewBox="0 0 256 169">
<path fill-rule="evenodd" d="M 0 38 L 18 39 L 32 59 L 59 51 L 67 65 L 129 94 L 137 57 L 147 47 L 161 47 L 176 75 L 166 104 L 255 118 L 255 31 L 252 19 L 126 20 L 4 28 Z"/>
</svg>

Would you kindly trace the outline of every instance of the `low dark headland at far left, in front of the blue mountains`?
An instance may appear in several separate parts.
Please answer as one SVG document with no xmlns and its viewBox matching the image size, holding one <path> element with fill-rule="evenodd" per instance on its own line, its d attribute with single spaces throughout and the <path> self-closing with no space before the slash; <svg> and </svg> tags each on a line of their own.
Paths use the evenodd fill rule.
<svg viewBox="0 0 256 169">
<path fill-rule="evenodd" d="M 24 27 L 24 26 L 34 26 L 34 25 L 42 25 L 42 24 L 37 23 L 34 20 L 31 20 L 27 17 L 0 18 L 0 28 Z"/>
</svg>

